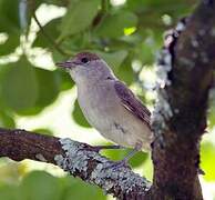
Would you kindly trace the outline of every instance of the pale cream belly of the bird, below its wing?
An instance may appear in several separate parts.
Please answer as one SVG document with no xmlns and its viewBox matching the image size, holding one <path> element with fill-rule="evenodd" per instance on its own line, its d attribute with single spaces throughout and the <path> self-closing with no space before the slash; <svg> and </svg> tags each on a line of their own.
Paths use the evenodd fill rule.
<svg viewBox="0 0 215 200">
<path fill-rule="evenodd" d="M 134 148 L 142 142 L 143 149 L 149 150 L 151 143 L 150 129 L 142 122 L 133 120 L 132 116 L 124 116 L 121 110 L 114 108 L 82 108 L 89 123 L 104 138 L 123 147 Z"/>
</svg>

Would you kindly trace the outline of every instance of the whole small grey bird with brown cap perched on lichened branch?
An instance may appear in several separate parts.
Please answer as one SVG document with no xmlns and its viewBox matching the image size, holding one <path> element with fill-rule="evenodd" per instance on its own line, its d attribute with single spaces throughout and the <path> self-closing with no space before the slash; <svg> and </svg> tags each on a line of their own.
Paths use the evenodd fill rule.
<svg viewBox="0 0 215 200">
<path fill-rule="evenodd" d="M 78 101 L 89 123 L 104 138 L 119 146 L 99 149 L 133 148 L 124 164 L 140 150 L 151 150 L 153 133 L 151 112 L 121 82 L 108 63 L 90 52 L 78 53 L 73 59 L 57 63 L 66 69 L 78 87 Z"/>
</svg>

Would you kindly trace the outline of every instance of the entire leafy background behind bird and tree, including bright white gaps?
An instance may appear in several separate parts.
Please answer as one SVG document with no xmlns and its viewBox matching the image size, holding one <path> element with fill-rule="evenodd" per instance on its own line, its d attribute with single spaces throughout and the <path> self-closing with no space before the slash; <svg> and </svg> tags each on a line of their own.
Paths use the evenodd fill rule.
<svg viewBox="0 0 215 200">
<path fill-rule="evenodd" d="M 163 33 L 190 14 L 195 0 L 0 0 L 0 126 L 43 134 L 106 141 L 83 118 L 70 77 L 54 67 L 82 50 L 100 54 L 152 110 L 156 98 L 156 54 Z M 42 29 L 34 18 L 37 14 Z M 205 199 L 215 198 L 215 103 L 202 142 Z M 103 152 L 122 159 L 129 150 Z M 152 179 L 150 156 L 140 152 L 133 169 Z M 0 159 L 0 199 L 111 199 L 96 187 L 35 161 Z"/>
</svg>

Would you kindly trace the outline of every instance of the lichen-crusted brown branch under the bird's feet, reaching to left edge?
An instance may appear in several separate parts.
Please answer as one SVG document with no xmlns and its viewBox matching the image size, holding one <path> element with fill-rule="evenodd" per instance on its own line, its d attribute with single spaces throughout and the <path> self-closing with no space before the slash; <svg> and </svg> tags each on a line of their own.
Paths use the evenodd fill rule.
<svg viewBox="0 0 215 200">
<path fill-rule="evenodd" d="M 117 199 L 143 199 L 151 183 L 130 168 L 109 168 L 113 161 L 100 156 L 93 147 L 24 130 L 0 129 L 0 157 L 50 162 L 74 177 L 102 188 Z"/>
</svg>

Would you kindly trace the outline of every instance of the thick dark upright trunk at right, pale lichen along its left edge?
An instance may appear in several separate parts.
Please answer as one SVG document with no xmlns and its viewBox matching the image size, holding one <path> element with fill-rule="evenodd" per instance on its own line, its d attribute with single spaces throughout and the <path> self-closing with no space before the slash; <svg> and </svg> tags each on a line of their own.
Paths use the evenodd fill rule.
<svg viewBox="0 0 215 200">
<path fill-rule="evenodd" d="M 203 199 L 199 140 L 215 67 L 215 2 L 203 1 L 177 29 L 167 37 L 158 66 L 165 79 L 153 118 L 156 140 L 150 194 L 153 199 Z"/>
</svg>

